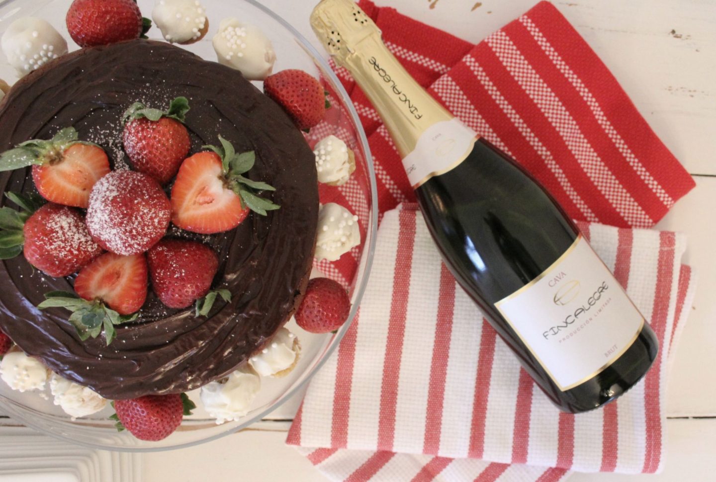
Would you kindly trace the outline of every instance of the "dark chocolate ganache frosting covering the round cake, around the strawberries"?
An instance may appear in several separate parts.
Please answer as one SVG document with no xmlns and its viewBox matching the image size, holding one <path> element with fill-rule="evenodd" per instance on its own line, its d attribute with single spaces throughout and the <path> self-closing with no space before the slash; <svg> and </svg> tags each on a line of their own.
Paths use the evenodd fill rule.
<svg viewBox="0 0 716 482">
<path fill-rule="evenodd" d="M 222 378 L 260 349 L 294 312 L 308 282 L 318 218 L 314 154 L 283 110 L 236 70 L 206 62 L 170 44 L 135 40 L 82 49 L 21 79 L 0 104 L 0 152 L 28 139 L 49 139 L 73 126 L 100 144 L 115 169 L 127 168 L 120 119 L 133 102 L 165 109 L 184 96 L 192 153 L 228 139 L 253 150 L 251 179 L 269 182 L 263 196 L 281 205 L 251 215 L 235 230 L 168 235 L 211 245 L 220 266 L 214 287 L 226 287 L 208 317 L 170 310 L 152 292 L 140 318 L 102 336 L 79 340 L 63 308 L 39 310 L 44 293 L 72 290 L 72 277 L 52 278 L 21 255 L 0 265 L 0 328 L 28 355 L 105 398 L 178 393 Z M 3 172 L 3 191 L 32 192 L 28 169 Z"/>
</svg>

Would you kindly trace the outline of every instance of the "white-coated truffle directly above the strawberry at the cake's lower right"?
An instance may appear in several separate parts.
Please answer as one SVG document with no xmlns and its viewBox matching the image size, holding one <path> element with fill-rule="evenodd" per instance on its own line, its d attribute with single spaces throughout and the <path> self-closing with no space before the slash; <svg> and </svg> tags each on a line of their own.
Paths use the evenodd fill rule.
<svg viewBox="0 0 716 482">
<path fill-rule="evenodd" d="M 318 212 L 316 260 L 336 261 L 359 244 L 358 217 L 335 202 L 322 205 Z"/>
</svg>

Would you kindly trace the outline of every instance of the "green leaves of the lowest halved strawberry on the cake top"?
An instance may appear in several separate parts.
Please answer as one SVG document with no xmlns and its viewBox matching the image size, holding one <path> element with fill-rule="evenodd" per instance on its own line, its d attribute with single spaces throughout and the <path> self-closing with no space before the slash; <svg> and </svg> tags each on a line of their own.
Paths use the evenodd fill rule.
<svg viewBox="0 0 716 482">
<path fill-rule="evenodd" d="M 110 345 L 117 336 L 115 325 L 122 325 L 137 319 L 138 314 L 120 315 L 107 308 L 100 300 L 87 301 L 72 292 L 51 291 L 45 293 L 45 300 L 37 305 L 40 310 L 47 308 L 66 308 L 71 311 L 68 321 L 77 330 L 79 339 L 97 338 L 105 333 L 105 342 Z"/>
</svg>

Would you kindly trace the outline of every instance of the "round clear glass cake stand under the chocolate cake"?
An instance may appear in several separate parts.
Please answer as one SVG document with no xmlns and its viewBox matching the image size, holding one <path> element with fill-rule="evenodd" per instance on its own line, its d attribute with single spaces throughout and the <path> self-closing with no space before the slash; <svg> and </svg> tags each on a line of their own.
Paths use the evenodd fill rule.
<svg viewBox="0 0 716 482">
<path fill-rule="evenodd" d="M 73 51 L 78 47 L 69 38 L 64 25 L 64 16 L 70 3 L 71 0 L 0 1 L 0 34 L 12 21 L 21 16 L 39 16 L 49 21 L 67 39 L 69 50 Z M 258 26 L 269 36 L 277 56 L 274 72 L 284 69 L 303 69 L 314 77 L 320 77 L 329 92 L 332 107 L 327 112 L 324 122 L 311 129 L 307 140 L 312 147 L 319 137 L 335 134 L 343 139 L 356 154 L 357 169 L 352 174 L 349 183 L 340 188 L 344 190 L 345 197 L 351 200 L 352 207 L 349 209 L 359 216 L 362 235 L 361 244 L 355 247 L 351 253 L 356 260 L 354 274 L 349 275 L 350 279 L 343 280 L 350 287 L 352 301 L 350 315 L 347 323 L 337 333 L 326 335 L 306 333 L 297 327 L 292 319 L 286 328 L 296 333 L 300 340 L 302 349 L 299 363 L 289 375 L 283 378 L 262 378 L 261 391 L 254 400 L 251 411 L 245 417 L 238 421 L 217 425 L 216 421 L 209 417 L 200 406 L 198 390 L 195 390 L 190 392 L 189 396 L 197 403 L 198 408 L 194 410 L 193 415 L 185 417 L 175 433 L 158 442 L 137 440 L 126 431 L 118 433 L 114 428 L 114 422 L 108 418 L 114 413 L 109 406 L 95 415 L 72 420 L 62 409 L 52 403 L 49 388 L 43 392 L 35 390 L 19 393 L 11 390 L 0 380 L 0 413 L 65 441 L 115 451 L 163 451 L 212 441 L 246 428 L 291 398 L 291 395 L 294 395 L 324 365 L 349 329 L 368 280 L 377 231 L 375 175 L 367 139 L 347 92 L 332 72 L 329 64 L 311 46 L 309 41 L 288 22 L 281 19 L 278 14 L 262 6 L 258 1 L 201 0 L 201 3 L 205 6 L 209 19 L 208 34 L 201 41 L 183 46 L 183 48 L 193 51 L 203 59 L 216 61 L 211 37 L 216 34 L 222 19 L 233 16 L 243 22 Z M 154 1 L 139 0 L 138 4 L 142 14 L 150 17 Z M 290 2 L 286 2 L 286 9 L 289 9 L 290 6 Z M 307 21 L 308 19 L 306 19 Z M 151 39 L 162 39 L 156 26 L 150 30 L 148 36 Z M 0 79 L 6 80 L 9 84 L 17 79 L 14 68 L 7 64 L 5 56 L 2 54 L 0 54 Z M 255 84 L 261 89 L 260 82 L 255 82 Z M 326 202 L 324 197 L 331 197 L 331 190 L 336 189 L 339 188 L 321 187 L 321 202 Z M 334 267 L 326 264 L 325 261 L 317 264 L 315 268 L 316 272 L 325 272 L 329 277 L 332 273 L 334 275 L 337 273 Z M 345 273 L 345 271 L 343 272 Z"/>
</svg>

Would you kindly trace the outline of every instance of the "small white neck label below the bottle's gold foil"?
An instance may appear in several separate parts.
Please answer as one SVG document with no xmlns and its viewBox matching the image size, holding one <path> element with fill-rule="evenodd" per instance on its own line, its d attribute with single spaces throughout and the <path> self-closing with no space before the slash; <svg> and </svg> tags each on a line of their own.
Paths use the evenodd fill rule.
<svg viewBox="0 0 716 482">
<path fill-rule="evenodd" d="M 403 167 L 413 189 L 433 176 L 457 167 L 472 152 L 478 134 L 460 122 L 450 119 L 432 124 L 420 134 L 415 149 L 403 158 Z"/>
</svg>

